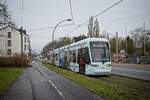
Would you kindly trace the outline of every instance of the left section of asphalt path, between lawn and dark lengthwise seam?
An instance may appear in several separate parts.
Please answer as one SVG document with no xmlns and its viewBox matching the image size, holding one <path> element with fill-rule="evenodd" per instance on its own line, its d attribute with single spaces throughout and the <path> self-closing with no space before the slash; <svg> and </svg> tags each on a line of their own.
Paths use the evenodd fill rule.
<svg viewBox="0 0 150 100">
<path fill-rule="evenodd" d="M 28 70 L 25 70 L 10 88 L 0 95 L 0 100 L 33 100 Z"/>
</svg>

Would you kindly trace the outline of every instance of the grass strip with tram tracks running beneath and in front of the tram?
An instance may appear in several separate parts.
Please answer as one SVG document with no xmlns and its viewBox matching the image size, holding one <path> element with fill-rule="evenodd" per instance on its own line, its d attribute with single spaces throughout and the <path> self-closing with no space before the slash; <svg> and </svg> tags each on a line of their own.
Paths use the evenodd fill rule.
<svg viewBox="0 0 150 100">
<path fill-rule="evenodd" d="M 90 77 L 53 65 L 43 65 L 108 100 L 150 100 L 148 81 L 115 75 Z"/>
</svg>

